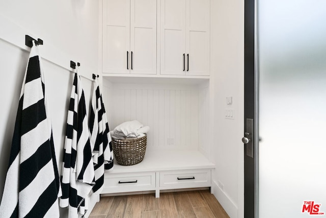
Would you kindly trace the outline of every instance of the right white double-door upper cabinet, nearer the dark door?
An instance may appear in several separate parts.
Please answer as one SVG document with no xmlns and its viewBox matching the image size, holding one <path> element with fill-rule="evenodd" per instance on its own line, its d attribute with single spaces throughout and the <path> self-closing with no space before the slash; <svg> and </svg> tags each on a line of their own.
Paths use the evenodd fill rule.
<svg viewBox="0 0 326 218">
<path fill-rule="evenodd" d="M 161 0 L 160 74 L 209 76 L 210 0 Z"/>
</svg>

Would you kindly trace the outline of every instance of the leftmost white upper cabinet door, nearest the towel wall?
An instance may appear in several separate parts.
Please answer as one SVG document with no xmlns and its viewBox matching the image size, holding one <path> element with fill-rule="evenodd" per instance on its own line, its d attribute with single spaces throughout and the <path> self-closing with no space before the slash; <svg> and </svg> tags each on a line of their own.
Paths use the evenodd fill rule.
<svg viewBox="0 0 326 218">
<path fill-rule="evenodd" d="M 103 72 L 130 73 L 130 0 L 103 0 L 102 30 Z"/>
</svg>

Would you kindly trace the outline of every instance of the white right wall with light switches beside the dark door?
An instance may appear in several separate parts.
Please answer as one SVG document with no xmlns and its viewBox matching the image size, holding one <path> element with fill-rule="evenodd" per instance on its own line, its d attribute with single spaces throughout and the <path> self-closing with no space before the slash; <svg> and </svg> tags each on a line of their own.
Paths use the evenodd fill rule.
<svg viewBox="0 0 326 218">
<path fill-rule="evenodd" d="M 213 192 L 230 217 L 243 217 L 243 11 L 236 0 L 214 1 L 211 9 Z M 234 119 L 224 117 L 226 109 L 234 110 Z"/>
</svg>

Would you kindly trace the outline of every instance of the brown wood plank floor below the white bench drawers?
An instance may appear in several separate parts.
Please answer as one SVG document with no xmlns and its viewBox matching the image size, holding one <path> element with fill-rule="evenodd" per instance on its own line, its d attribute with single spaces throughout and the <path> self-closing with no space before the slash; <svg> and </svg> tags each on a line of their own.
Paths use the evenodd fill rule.
<svg viewBox="0 0 326 218">
<path fill-rule="evenodd" d="M 101 197 L 90 218 L 227 218 L 209 190 Z"/>
</svg>

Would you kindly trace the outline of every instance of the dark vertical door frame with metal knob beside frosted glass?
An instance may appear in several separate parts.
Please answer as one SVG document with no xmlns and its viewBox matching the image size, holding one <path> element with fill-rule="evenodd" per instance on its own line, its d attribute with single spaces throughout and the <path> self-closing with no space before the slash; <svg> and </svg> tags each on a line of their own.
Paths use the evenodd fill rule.
<svg viewBox="0 0 326 218">
<path fill-rule="evenodd" d="M 244 1 L 244 218 L 256 216 L 255 0 Z"/>
</svg>

